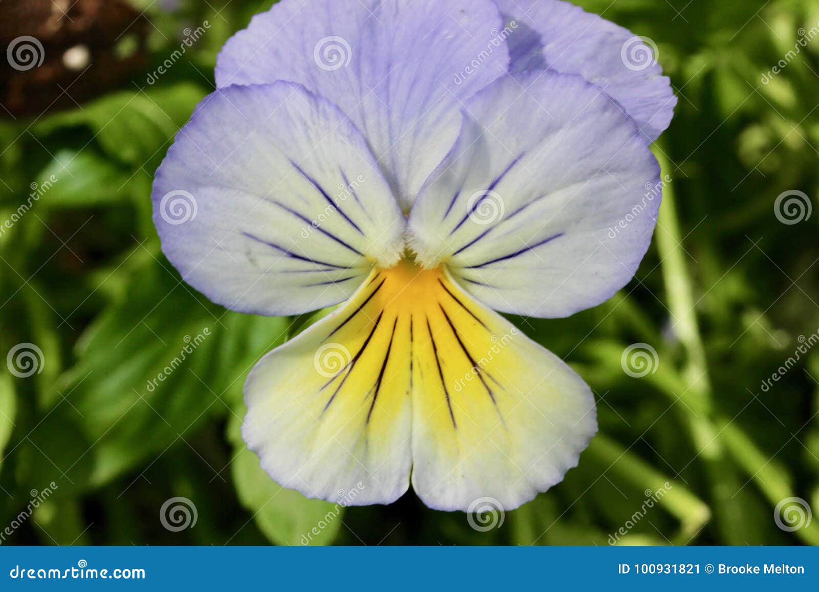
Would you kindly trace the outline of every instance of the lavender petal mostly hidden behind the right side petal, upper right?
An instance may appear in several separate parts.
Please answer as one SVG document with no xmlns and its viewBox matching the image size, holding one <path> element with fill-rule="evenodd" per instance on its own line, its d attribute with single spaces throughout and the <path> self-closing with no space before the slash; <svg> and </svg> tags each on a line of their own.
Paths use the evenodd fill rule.
<svg viewBox="0 0 819 592">
<path fill-rule="evenodd" d="M 654 142 L 671 123 L 676 97 L 647 38 L 562 0 L 497 0 L 509 35 L 510 72 L 577 74 L 597 84 Z"/>
</svg>

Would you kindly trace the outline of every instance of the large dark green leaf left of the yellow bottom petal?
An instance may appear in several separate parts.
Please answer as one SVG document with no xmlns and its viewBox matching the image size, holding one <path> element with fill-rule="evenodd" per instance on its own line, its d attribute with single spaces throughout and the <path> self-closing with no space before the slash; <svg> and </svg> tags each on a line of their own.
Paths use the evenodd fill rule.
<svg viewBox="0 0 819 592">
<path fill-rule="evenodd" d="M 79 362 L 57 389 L 97 442 L 90 485 L 224 415 L 256 359 L 281 341 L 283 323 L 224 313 L 153 259 L 135 270 L 124 294 L 79 340 Z"/>
</svg>

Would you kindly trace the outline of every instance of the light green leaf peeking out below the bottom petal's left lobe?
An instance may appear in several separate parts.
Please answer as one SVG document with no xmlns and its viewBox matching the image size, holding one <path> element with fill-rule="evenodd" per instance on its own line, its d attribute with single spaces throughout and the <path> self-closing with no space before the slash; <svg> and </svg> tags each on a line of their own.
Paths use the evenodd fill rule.
<svg viewBox="0 0 819 592">
<path fill-rule="evenodd" d="M 332 544 L 342 527 L 344 508 L 307 499 L 273 481 L 239 435 L 238 418 L 245 413 L 242 407 L 229 424 L 229 439 L 235 449 L 231 472 L 239 501 L 253 513 L 260 531 L 277 545 Z"/>
</svg>

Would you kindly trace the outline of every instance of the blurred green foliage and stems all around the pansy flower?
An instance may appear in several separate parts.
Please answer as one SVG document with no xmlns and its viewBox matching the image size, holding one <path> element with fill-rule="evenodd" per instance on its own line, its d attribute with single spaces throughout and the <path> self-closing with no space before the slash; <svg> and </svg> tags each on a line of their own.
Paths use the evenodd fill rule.
<svg viewBox="0 0 819 592">
<path fill-rule="evenodd" d="M 794 506 L 819 511 L 819 212 L 785 224 L 775 206 L 786 191 L 817 205 L 819 3 L 577 3 L 654 40 L 679 106 L 655 147 L 672 181 L 634 281 L 571 319 L 514 319 L 598 399 L 600 434 L 563 483 L 484 531 L 411 490 L 333 508 L 260 471 L 238 436 L 242 383 L 293 319 L 229 312 L 180 282 L 149 195 L 214 89 L 219 48 L 272 2 L 132 0 L 151 24 L 94 49 L 127 66 L 100 58 L 86 73 L 75 55 L 79 71 L 53 74 L 67 83 L 41 80 L 50 91 L 0 110 L 0 224 L 13 221 L 0 228 L 0 354 L 42 352 L 28 377 L 0 366 L 0 543 L 301 545 L 314 527 L 314 544 L 819 543 L 819 518 Z M 624 362 L 634 344 L 649 352 L 642 371 Z M 195 525 L 164 526 L 174 497 L 195 506 Z"/>
</svg>

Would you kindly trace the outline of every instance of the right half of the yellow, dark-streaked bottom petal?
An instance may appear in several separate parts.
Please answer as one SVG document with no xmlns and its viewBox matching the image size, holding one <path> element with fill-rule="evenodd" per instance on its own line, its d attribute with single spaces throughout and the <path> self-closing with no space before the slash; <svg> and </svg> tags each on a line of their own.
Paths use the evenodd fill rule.
<svg viewBox="0 0 819 592">
<path fill-rule="evenodd" d="M 432 508 L 489 497 L 514 509 L 577 466 L 597 432 L 594 396 L 556 355 L 441 276 L 415 347 L 413 487 Z"/>
</svg>

